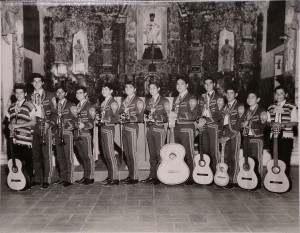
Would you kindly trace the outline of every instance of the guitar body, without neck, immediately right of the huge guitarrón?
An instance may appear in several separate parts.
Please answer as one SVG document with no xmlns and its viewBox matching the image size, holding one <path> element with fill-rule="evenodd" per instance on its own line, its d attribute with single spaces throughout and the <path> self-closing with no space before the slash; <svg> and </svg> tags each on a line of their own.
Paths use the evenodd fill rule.
<svg viewBox="0 0 300 233">
<path fill-rule="evenodd" d="M 209 166 L 210 157 L 207 154 L 203 154 L 201 160 L 200 154 L 194 157 L 195 168 L 193 171 L 193 179 L 197 184 L 210 184 L 214 180 L 213 172 Z"/>
</svg>

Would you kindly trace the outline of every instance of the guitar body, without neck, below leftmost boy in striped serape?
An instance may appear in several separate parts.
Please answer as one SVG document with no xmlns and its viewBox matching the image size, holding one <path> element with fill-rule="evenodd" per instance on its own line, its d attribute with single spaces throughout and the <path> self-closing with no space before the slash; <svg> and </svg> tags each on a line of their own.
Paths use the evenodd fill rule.
<svg viewBox="0 0 300 233">
<path fill-rule="evenodd" d="M 27 180 L 22 171 L 22 162 L 15 159 L 15 166 L 13 166 L 13 159 L 8 161 L 9 173 L 7 176 L 7 185 L 13 190 L 22 190 L 26 187 Z"/>
</svg>

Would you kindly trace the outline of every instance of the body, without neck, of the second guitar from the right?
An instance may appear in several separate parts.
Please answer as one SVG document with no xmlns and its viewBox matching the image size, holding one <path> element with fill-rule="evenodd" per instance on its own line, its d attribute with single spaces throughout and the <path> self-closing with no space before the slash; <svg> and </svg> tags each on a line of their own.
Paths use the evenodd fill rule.
<svg viewBox="0 0 300 233">
<path fill-rule="evenodd" d="M 239 173 L 237 175 L 238 185 L 243 189 L 255 189 L 258 184 L 257 176 L 254 172 L 255 162 L 248 157 L 248 166 L 245 164 L 245 157 L 239 160 Z"/>
</svg>

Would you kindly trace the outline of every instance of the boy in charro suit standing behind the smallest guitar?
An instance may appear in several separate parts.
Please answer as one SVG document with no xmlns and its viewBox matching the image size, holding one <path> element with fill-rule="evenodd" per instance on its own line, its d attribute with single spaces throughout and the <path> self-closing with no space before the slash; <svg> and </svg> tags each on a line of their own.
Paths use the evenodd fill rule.
<svg viewBox="0 0 300 233">
<path fill-rule="evenodd" d="M 220 143 L 226 142 L 225 163 L 229 170 L 230 183 L 227 188 L 237 187 L 238 161 L 241 147 L 241 124 L 244 121 L 245 107 L 236 100 L 237 90 L 230 87 L 226 91 L 228 103 L 222 111 L 220 121 Z"/>
</svg>

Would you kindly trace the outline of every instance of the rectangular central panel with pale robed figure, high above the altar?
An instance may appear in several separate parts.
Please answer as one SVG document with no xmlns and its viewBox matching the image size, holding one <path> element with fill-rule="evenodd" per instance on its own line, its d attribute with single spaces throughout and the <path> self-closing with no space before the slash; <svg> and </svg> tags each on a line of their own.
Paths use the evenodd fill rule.
<svg viewBox="0 0 300 233">
<path fill-rule="evenodd" d="M 137 10 L 137 59 L 167 59 L 167 8 L 141 6 Z"/>
</svg>

